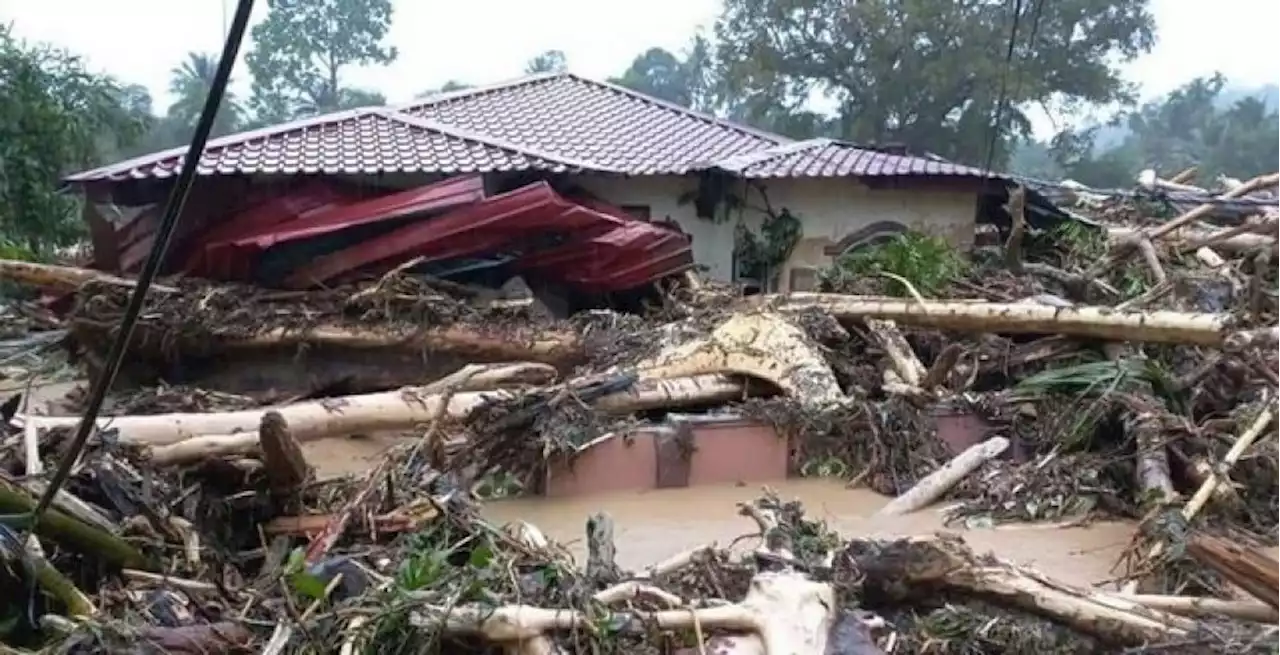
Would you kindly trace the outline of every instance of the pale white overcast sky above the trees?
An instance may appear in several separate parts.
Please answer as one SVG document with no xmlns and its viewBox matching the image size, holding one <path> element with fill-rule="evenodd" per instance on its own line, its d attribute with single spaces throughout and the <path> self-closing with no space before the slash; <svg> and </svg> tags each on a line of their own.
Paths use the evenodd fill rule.
<svg viewBox="0 0 1280 655">
<path fill-rule="evenodd" d="M 221 50 L 234 0 L 0 0 L 0 20 L 32 41 L 86 58 L 90 67 L 151 90 L 168 107 L 169 72 L 189 51 Z M 445 81 L 481 84 L 521 74 L 525 63 L 563 50 L 570 69 L 594 78 L 620 74 L 641 51 L 680 51 L 709 28 L 719 0 L 394 0 L 390 42 L 399 59 L 352 70 L 346 82 L 399 102 Z M 1210 9 L 1211 6 L 1211 9 Z M 266 12 L 259 0 L 255 19 Z M 1152 0 L 1160 42 L 1125 67 L 1144 97 L 1197 75 L 1224 73 L 1233 84 L 1280 83 L 1280 60 L 1265 56 L 1280 23 L 1276 0 Z M 244 50 L 247 50 L 246 43 Z M 243 56 L 243 50 L 242 50 Z M 247 93 L 237 67 L 234 87 Z M 1037 132 L 1051 129 L 1047 122 Z"/>
</svg>

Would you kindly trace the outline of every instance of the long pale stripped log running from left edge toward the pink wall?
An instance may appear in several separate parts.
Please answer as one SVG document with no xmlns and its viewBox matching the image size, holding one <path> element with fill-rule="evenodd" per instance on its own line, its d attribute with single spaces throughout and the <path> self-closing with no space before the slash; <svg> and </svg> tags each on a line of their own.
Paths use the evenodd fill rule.
<svg viewBox="0 0 1280 655">
<path fill-rule="evenodd" d="M 605 412 L 632 413 L 668 407 L 716 404 L 739 399 L 745 393 L 741 381 L 707 375 L 675 380 L 640 380 L 631 389 L 600 398 L 595 406 Z M 166 463 L 191 462 L 206 455 L 248 454 L 257 452 L 257 426 L 262 414 L 276 411 L 289 425 L 298 441 L 328 436 L 411 430 L 431 421 L 444 407 L 445 418 L 463 418 L 486 402 L 512 400 L 520 391 L 471 391 L 458 394 L 425 394 L 421 388 L 404 388 L 378 394 L 348 395 L 307 400 L 280 407 L 242 409 L 237 412 L 170 413 L 154 416 L 101 417 L 101 426 L 119 430 L 120 441 L 140 445 L 179 444 L 196 436 L 201 440 L 183 443 L 179 450 L 164 455 Z M 447 398 L 447 400 L 445 400 Z M 74 427 L 77 417 L 27 416 L 40 430 Z M 243 431 L 242 434 L 237 434 Z M 154 457 L 161 459 L 160 452 Z"/>
</svg>

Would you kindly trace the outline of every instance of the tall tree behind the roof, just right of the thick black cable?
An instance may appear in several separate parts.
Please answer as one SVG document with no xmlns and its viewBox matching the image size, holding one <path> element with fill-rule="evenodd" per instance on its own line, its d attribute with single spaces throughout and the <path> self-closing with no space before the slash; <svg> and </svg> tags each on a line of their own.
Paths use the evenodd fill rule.
<svg viewBox="0 0 1280 655">
<path fill-rule="evenodd" d="M 268 8 L 246 58 L 257 124 L 385 101 L 344 86 L 342 73 L 396 60 L 385 45 L 390 0 L 269 0 Z"/>
</svg>

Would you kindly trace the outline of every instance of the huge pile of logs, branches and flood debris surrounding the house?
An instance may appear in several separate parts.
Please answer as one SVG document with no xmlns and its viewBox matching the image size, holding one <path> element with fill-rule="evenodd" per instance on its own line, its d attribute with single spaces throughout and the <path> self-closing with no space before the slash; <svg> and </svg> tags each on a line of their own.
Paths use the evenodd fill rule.
<svg viewBox="0 0 1280 655">
<path fill-rule="evenodd" d="M 1001 243 L 972 258 L 906 234 L 838 262 L 820 293 L 742 298 L 681 276 L 637 311 L 567 319 L 410 270 L 308 292 L 165 280 L 36 540 L 22 517 L 79 398 L 63 416 L 20 388 L 4 404 L 3 638 L 68 652 L 1276 647 L 1261 626 L 1280 623 L 1280 564 L 1262 550 L 1280 544 L 1272 223 L 1106 206 L 1041 233 L 1021 202 L 1011 193 Z M 1222 246 L 1238 237 L 1271 241 Z M 131 280 L 18 262 L 0 279 L 68 294 L 38 344 L 101 366 Z M 741 507 L 755 550 L 634 572 L 605 514 L 585 567 L 535 526 L 481 517 L 497 480 L 547 493 L 591 448 L 676 412 L 769 426 L 790 475 L 892 496 L 884 516 L 945 500 L 970 526 L 1143 530 L 1124 586 L 1093 591 L 954 536 L 836 535 L 772 495 Z M 403 445 L 357 478 L 317 480 L 303 448 L 385 432 Z M 677 459 L 703 457 L 680 439 Z"/>
</svg>

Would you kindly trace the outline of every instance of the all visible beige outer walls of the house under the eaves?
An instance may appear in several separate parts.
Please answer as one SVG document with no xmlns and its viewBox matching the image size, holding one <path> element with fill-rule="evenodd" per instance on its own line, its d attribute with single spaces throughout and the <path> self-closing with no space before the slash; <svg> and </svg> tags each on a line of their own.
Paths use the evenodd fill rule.
<svg viewBox="0 0 1280 655">
<path fill-rule="evenodd" d="M 655 219 L 671 217 L 694 237 L 694 257 L 712 279 L 728 281 L 733 271 L 733 226 L 736 220 L 759 225 L 764 198 L 755 191 L 748 196 L 741 219 L 713 223 L 699 219 L 694 206 L 680 205 L 682 194 L 696 188 L 694 178 L 675 175 L 605 178 L 576 180 L 591 193 L 614 205 L 646 205 Z M 910 229 L 945 237 L 954 246 L 969 249 L 974 237 L 975 192 L 957 191 L 873 191 L 852 179 L 778 179 L 764 182 L 774 211 L 788 209 L 801 220 L 800 243 L 777 278 L 788 287 L 792 269 L 822 269 L 832 257 L 823 251 L 846 234 L 872 223 L 892 220 Z"/>
</svg>

